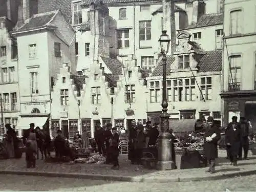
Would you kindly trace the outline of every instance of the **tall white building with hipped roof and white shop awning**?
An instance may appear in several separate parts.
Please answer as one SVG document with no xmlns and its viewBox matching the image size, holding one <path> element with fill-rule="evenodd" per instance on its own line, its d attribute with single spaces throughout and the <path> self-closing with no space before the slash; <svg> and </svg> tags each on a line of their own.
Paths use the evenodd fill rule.
<svg viewBox="0 0 256 192">
<path fill-rule="evenodd" d="M 75 63 L 71 51 L 75 32 L 57 10 L 34 14 L 12 34 L 19 50 L 19 134 L 31 122 L 51 130 L 51 91 L 62 63 Z M 70 71 L 75 73 L 76 66 L 71 65 Z"/>
</svg>

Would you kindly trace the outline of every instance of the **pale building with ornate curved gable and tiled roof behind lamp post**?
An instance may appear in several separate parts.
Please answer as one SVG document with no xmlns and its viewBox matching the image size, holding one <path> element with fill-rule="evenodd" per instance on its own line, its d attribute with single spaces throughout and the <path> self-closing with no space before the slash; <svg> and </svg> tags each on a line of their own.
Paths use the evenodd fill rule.
<svg viewBox="0 0 256 192">
<path fill-rule="evenodd" d="M 191 34 L 179 32 L 173 56 L 167 56 L 167 100 L 171 120 L 214 116 L 221 121 L 220 81 L 222 51 L 204 51 Z M 147 77 L 147 116 L 159 122 L 162 110 L 162 62 Z"/>
</svg>

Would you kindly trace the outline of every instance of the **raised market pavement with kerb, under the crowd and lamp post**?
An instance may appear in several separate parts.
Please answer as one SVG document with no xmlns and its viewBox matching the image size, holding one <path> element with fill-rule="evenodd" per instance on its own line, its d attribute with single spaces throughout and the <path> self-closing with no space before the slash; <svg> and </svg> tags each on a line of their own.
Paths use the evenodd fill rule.
<svg viewBox="0 0 256 192">
<path fill-rule="evenodd" d="M 25 154 L 23 155 L 25 156 Z M 113 176 L 143 176 L 146 177 L 161 177 L 161 178 L 186 178 L 186 177 L 206 177 L 209 174 L 205 173 L 206 168 L 194 169 L 176 169 L 157 171 L 145 169 L 140 165 L 131 165 L 127 160 L 126 155 L 120 155 L 120 169 L 112 170 L 111 165 L 106 164 L 66 164 L 66 163 L 45 163 L 43 160 L 37 160 L 36 168 L 26 168 L 25 159 L 8 159 L 0 160 L 0 170 L 21 170 L 28 172 L 54 172 L 54 173 L 75 173 L 75 174 L 94 174 L 94 175 L 113 175 Z M 234 173 L 239 170 L 255 169 L 256 156 L 249 153 L 250 160 L 239 161 L 238 167 L 229 165 L 225 159 L 226 152 L 219 150 L 219 163 L 216 166 L 217 173 L 215 175 L 222 175 L 223 173 Z M 212 176 L 212 175 L 211 175 Z"/>
</svg>

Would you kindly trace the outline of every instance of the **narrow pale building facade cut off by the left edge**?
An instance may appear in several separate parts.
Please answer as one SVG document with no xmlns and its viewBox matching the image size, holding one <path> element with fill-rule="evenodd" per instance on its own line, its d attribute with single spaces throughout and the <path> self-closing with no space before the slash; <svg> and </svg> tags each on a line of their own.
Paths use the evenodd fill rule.
<svg viewBox="0 0 256 192">
<path fill-rule="evenodd" d="M 3 119 L 1 123 L 17 125 L 19 116 L 17 41 L 10 34 L 14 24 L 7 17 L 0 17 L 0 99 Z M 0 135 L 5 133 L 1 126 Z"/>
</svg>

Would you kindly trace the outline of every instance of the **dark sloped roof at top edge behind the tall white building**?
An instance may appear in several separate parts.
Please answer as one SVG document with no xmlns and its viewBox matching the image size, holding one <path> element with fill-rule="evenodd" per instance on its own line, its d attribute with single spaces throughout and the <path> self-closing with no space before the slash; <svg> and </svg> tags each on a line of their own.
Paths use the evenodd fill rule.
<svg viewBox="0 0 256 192">
<path fill-rule="evenodd" d="M 60 10 L 68 23 L 72 23 L 72 0 L 38 0 L 38 13 Z"/>
</svg>

